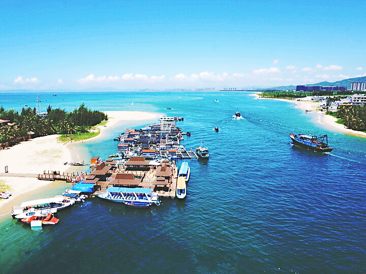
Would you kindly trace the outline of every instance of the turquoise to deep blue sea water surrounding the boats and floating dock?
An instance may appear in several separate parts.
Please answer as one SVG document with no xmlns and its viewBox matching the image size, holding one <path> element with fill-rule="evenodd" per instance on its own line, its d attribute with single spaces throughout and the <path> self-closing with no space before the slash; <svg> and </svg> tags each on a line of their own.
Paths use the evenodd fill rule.
<svg viewBox="0 0 366 274">
<path fill-rule="evenodd" d="M 42 231 L 6 218 L 0 272 L 365 272 L 366 139 L 324 128 L 292 103 L 249 94 L 42 93 L 44 110 L 85 103 L 182 116 L 177 125 L 192 133 L 182 144 L 203 141 L 210 158 L 189 161 L 185 200 L 136 209 L 90 198 L 59 211 L 59 223 Z M 36 106 L 36 94 L 1 98 L 6 109 Z M 244 119 L 232 119 L 237 109 Z M 125 128 L 151 122 L 119 124 L 80 144 L 85 162 L 114 153 L 113 138 Z M 328 134 L 332 153 L 292 146 L 289 133 L 299 131 Z"/>
</svg>

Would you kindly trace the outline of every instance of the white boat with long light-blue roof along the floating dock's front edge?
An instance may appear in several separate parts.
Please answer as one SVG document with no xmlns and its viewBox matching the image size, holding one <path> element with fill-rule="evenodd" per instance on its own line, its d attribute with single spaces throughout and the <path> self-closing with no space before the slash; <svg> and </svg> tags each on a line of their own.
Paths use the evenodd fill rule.
<svg viewBox="0 0 366 274">
<path fill-rule="evenodd" d="M 159 205 L 161 198 L 151 189 L 144 188 L 117 188 L 110 187 L 101 194 L 99 198 L 112 202 L 124 203 L 128 206 L 147 207 L 150 205 Z"/>
</svg>

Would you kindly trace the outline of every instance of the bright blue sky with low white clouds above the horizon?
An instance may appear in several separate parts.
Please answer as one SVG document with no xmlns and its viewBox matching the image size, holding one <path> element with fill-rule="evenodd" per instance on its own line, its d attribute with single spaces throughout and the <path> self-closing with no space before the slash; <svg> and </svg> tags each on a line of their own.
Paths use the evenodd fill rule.
<svg viewBox="0 0 366 274">
<path fill-rule="evenodd" d="M 2 1 L 0 90 L 366 76 L 366 2 Z"/>
</svg>

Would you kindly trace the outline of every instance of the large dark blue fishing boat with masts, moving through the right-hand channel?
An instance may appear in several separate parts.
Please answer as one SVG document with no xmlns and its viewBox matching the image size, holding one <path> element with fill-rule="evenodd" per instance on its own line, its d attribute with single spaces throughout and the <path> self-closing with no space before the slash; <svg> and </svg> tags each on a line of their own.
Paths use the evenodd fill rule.
<svg viewBox="0 0 366 274">
<path fill-rule="evenodd" d="M 306 134 L 296 135 L 290 133 L 290 138 L 292 139 L 293 144 L 318 152 L 330 152 L 333 150 L 333 148 L 328 146 L 328 136 L 326 134 L 317 137 Z"/>
</svg>

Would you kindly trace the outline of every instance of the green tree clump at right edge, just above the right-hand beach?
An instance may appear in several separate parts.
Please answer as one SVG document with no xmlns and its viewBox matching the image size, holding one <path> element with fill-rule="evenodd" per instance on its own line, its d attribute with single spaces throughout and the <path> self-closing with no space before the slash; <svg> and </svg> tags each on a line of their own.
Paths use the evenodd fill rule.
<svg viewBox="0 0 366 274">
<path fill-rule="evenodd" d="M 349 129 L 366 131 L 366 106 L 340 105 L 338 111 L 327 111 L 326 114 L 338 118 L 337 123 Z"/>
</svg>

